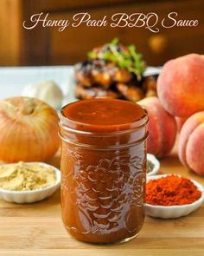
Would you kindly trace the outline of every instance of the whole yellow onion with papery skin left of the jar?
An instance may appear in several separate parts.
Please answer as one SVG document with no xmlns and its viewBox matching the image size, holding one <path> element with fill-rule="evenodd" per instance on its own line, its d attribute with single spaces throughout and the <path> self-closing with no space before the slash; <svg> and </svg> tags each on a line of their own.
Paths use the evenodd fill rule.
<svg viewBox="0 0 204 256">
<path fill-rule="evenodd" d="M 0 102 L 0 160 L 46 161 L 60 146 L 58 115 L 35 98 Z"/>
</svg>

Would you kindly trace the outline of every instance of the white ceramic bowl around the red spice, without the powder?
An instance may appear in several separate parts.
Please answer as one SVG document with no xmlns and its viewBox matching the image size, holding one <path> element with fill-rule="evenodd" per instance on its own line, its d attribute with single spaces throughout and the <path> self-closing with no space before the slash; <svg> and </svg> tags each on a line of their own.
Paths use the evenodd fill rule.
<svg viewBox="0 0 204 256">
<path fill-rule="evenodd" d="M 168 175 L 169 174 L 150 176 L 150 177 L 147 177 L 147 182 L 150 180 L 159 179 L 161 177 L 166 177 Z M 177 175 L 177 176 L 181 177 L 181 175 Z M 189 180 L 194 182 L 194 185 L 201 191 L 200 199 L 194 201 L 194 203 L 192 204 L 182 205 L 182 206 L 165 207 L 165 206 L 153 206 L 150 204 L 144 204 L 146 215 L 149 215 L 151 217 L 156 217 L 156 218 L 162 218 L 162 219 L 175 219 L 175 218 L 179 218 L 194 212 L 198 207 L 201 206 L 202 202 L 204 201 L 204 188 L 197 181 L 193 181 L 191 179 Z"/>
</svg>

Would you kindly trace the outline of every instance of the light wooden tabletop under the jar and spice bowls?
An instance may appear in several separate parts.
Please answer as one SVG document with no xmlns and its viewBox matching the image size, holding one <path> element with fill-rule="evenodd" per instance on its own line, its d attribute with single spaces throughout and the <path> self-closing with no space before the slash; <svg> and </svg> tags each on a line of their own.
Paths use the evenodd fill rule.
<svg viewBox="0 0 204 256">
<path fill-rule="evenodd" d="M 51 161 L 59 166 L 59 157 Z M 182 167 L 176 155 L 161 161 L 161 174 L 183 174 L 204 185 L 204 177 Z M 204 255 L 204 204 L 175 220 L 146 217 L 137 238 L 117 246 L 74 240 L 61 222 L 60 191 L 47 200 L 19 205 L 0 200 L 0 255 Z"/>
</svg>

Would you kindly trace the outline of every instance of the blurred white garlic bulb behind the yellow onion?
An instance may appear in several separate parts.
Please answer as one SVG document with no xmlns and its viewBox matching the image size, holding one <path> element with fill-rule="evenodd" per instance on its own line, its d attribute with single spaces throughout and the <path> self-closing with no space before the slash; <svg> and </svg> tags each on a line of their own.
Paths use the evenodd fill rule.
<svg viewBox="0 0 204 256">
<path fill-rule="evenodd" d="M 63 95 L 61 89 L 52 81 L 29 84 L 22 90 L 22 96 L 37 98 L 47 102 L 55 109 L 61 108 Z"/>
</svg>

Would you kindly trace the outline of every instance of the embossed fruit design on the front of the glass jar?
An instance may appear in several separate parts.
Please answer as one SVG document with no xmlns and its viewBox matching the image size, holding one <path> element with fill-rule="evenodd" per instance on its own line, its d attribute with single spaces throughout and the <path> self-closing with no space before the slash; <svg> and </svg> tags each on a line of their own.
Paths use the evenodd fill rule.
<svg viewBox="0 0 204 256">
<path fill-rule="evenodd" d="M 67 229 L 83 234 L 121 228 L 134 232 L 138 226 L 130 226 L 132 214 L 143 207 L 144 159 L 127 153 L 87 165 L 80 152 L 68 150 L 67 154 L 74 164 L 69 174 L 61 174 L 61 189 L 73 194 L 83 231 L 70 225 Z"/>
</svg>

